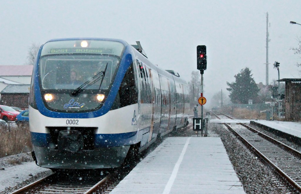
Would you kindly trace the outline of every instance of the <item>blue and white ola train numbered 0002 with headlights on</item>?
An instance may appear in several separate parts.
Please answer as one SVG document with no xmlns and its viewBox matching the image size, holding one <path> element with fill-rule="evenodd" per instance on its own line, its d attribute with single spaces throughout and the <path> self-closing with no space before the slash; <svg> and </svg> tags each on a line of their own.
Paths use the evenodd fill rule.
<svg viewBox="0 0 301 194">
<path fill-rule="evenodd" d="M 153 65 L 138 45 L 67 38 L 41 46 L 29 97 L 37 165 L 120 167 L 135 150 L 188 125 L 186 81 Z"/>
</svg>

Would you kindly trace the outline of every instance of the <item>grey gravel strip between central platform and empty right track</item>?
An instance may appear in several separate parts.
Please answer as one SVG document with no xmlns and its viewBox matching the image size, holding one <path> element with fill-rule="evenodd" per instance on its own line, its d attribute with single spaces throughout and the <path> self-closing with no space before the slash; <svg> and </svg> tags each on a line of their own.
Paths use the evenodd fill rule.
<svg viewBox="0 0 301 194">
<path fill-rule="evenodd" d="M 246 193 L 297 193 L 272 167 L 253 154 L 224 125 L 210 123 L 208 133 L 220 135 Z"/>
</svg>

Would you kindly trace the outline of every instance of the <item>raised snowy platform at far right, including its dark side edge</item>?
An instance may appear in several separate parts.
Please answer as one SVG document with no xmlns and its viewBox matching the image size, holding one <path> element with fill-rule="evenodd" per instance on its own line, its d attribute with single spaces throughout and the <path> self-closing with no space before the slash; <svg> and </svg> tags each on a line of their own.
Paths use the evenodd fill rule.
<svg viewBox="0 0 301 194">
<path fill-rule="evenodd" d="M 288 122 L 288 121 L 252 121 L 252 125 L 265 127 L 268 130 L 271 130 L 276 135 L 289 135 L 290 138 L 298 139 L 301 141 L 301 123 L 297 122 Z M 301 143 L 301 142 L 300 142 Z"/>
</svg>

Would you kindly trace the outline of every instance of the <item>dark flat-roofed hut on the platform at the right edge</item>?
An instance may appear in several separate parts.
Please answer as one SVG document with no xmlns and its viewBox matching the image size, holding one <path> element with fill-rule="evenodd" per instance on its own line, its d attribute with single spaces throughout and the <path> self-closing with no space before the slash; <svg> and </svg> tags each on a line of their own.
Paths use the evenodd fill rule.
<svg viewBox="0 0 301 194">
<path fill-rule="evenodd" d="M 285 119 L 301 120 L 301 79 L 281 79 L 285 82 Z"/>
</svg>

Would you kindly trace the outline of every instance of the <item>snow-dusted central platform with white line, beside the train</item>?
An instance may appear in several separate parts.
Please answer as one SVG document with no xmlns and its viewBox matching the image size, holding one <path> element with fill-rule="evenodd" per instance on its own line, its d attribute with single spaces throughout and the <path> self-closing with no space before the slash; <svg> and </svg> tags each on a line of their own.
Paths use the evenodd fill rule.
<svg viewBox="0 0 301 194">
<path fill-rule="evenodd" d="M 169 137 L 110 193 L 245 192 L 219 137 Z"/>
</svg>

